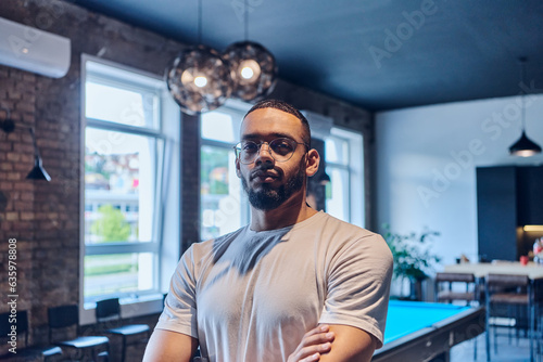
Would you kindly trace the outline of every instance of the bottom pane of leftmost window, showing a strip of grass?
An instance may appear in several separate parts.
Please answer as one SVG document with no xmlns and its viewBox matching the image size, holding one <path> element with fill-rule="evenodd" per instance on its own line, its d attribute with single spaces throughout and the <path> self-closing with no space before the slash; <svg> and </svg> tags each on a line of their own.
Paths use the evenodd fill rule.
<svg viewBox="0 0 543 362">
<path fill-rule="evenodd" d="M 151 253 L 86 256 L 85 297 L 151 290 L 153 271 Z"/>
</svg>

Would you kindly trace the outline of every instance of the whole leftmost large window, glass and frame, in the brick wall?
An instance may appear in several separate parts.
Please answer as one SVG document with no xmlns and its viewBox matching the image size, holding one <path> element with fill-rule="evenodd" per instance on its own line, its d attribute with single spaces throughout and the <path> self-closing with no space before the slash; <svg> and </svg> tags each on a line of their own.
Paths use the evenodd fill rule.
<svg viewBox="0 0 543 362">
<path fill-rule="evenodd" d="M 83 297 L 160 293 L 162 80 L 84 57 Z M 178 119 L 175 121 L 179 121 Z"/>
</svg>

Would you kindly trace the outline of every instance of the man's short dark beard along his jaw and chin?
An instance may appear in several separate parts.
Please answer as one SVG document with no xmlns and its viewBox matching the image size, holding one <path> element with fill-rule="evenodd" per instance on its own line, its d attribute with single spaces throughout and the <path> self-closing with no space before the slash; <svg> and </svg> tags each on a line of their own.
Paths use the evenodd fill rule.
<svg viewBox="0 0 543 362">
<path fill-rule="evenodd" d="M 251 205 L 260 210 L 273 210 L 281 206 L 293 193 L 302 190 L 305 180 L 305 168 L 302 166 L 304 161 L 305 159 L 302 158 L 296 174 L 277 189 L 274 189 L 272 184 L 263 183 L 261 190 L 254 191 L 249 188 L 245 178 L 242 177 L 241 184 L 249 196 Z"/>
</svg>

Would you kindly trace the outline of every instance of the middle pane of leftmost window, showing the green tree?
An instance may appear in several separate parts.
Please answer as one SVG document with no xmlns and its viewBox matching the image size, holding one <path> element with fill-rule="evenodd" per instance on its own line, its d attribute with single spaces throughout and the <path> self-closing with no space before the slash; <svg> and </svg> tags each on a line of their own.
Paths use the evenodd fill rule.
<svg viewBox="0 0 543 362">
<path fill-rule="evenodd" d="M 87 127 L 85 243 L 153 240 L 156 141 Z"/>
</svg>

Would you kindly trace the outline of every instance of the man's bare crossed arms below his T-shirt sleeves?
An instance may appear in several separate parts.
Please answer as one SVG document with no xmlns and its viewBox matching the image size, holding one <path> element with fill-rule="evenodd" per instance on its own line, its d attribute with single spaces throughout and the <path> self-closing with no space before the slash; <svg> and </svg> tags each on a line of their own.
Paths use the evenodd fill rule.
<svg viewBox="0 0 543 362">
<path fill-rule="evenodd" d="M 375 338 L 365 331 L 342 324 L 320 325 L 307 332 L 288 362 L 369 362 Z M 198 340 L 176 332 L 155 329 L 143 362 L 190 362 Z"/>
</svg>

